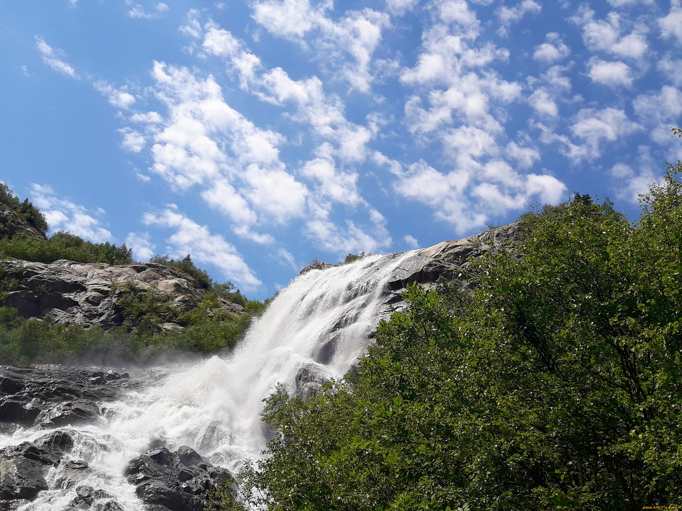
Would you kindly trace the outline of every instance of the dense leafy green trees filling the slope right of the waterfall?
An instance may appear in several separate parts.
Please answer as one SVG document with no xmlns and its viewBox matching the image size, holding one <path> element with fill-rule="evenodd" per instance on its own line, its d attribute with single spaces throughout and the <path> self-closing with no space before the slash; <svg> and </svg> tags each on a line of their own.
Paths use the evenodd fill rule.
<svg viewBox="0 0 682 511">
<path fill-rule="evenodd" d="M 411 286 L 340 381 L 282 388 L 213 509 L 640 510 L 682 497 L 682 165 L 638 222 L 576 195 L 477 283 Z"/>
</svg>

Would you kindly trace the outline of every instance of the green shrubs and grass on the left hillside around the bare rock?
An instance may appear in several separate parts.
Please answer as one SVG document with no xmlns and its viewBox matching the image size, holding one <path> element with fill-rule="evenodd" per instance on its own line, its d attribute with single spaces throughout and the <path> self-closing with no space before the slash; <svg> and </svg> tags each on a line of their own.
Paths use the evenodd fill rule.
<svg viewBox="0 0 682 511">
<path fill-rule="evenodd" d="M 2 182 L 0 204 L 12 209 L 42 234 L 48 232 L 48 223 L 40 210 L 28 199 L 21 202 Z M 59 259 L 107 264 L 134 262 L 132 249 L 125 243 L 120 247 L 91 243 L 64 231 L 50 238 L 32 232 L 0 237 L 2 258 L 44 263 Z M 150 262 L 177 268 L 194 277 L 204 290 L 198 307 L 183 312 L 173 304 L 172 296 L 154 290 L 139 292 L 132 281 L 112 286 L 112 295 L 117 291 L 121 295 L 117 305 L 123 309 L 125 320 L 121 326 L 106 332 L 98 327 L 64 326 L 50 316 L 20 318 L 16 309 L 0 307 L 0 364 L 95 361 L 106 365 L 119 360 L 145 363 L 160 354 L 210 353 L 233 347 L 252 318 L 260 315 L 269 302 L 249 300 L 229 281 L 214 282 L 205 270 L 194 264 L 190 255 L 178 260 L 155 255 Z M 0 302 L 17 286 L 16 279 L 0 274 Z M 221 309 L 224 302 L 241 305 L 246 313 Z"/>
</svg>

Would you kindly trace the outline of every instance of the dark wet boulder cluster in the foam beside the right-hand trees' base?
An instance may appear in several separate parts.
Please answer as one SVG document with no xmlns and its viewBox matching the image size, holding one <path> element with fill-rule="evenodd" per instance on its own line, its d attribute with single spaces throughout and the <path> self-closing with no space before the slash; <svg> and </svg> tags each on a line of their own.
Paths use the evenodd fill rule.
<svg viewBox="0 0 682 511">
<path fill-rule="evenodd" d="M 208 491 L 233 479 L 188 446 L 149 450 L 132 459 L 123 475 L 149 509 L 158 511 L 203 511 Z"/>
</svg>

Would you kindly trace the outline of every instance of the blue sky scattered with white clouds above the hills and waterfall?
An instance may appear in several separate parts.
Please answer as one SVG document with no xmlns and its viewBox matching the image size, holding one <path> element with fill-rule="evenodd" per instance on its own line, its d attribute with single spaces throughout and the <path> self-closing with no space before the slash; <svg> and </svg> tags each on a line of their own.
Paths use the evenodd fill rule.
<svg viewBox="0 0 682 511">
<path fill-rule="evenodd" d="M 679 0 L 0 5 L 0 179 L 254 298 L 681 158 Z"/>
</svg>

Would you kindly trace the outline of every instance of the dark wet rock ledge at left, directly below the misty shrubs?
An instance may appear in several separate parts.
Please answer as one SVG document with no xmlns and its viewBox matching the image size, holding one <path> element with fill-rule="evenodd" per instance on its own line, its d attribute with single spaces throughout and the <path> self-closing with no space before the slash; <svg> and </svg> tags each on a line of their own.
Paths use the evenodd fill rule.
<svg viewBox="0 0 682 511">
<path fill-rule="evenodd" d="M 102 414 L 102 402 L 144 384 L 113 369 L 0 366 L 0 431 L 94 422 Z"/>
</svg>

